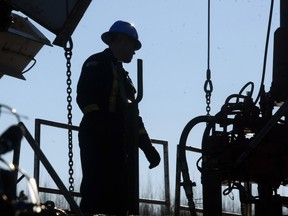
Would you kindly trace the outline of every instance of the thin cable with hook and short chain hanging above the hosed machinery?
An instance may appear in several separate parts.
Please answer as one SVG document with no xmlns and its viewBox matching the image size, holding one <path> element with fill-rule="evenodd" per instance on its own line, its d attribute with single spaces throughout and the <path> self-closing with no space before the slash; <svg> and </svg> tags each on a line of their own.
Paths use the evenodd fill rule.
<svg viewBox="0 0 288 216">
<path fill-rule="evenodd" d="M 204 91 L 206 97 L 206 114 L 209 116 L 211 107 L 211 94 L 213 91 L 213 84 L 211 81 L 211 70 L 210 70 L 210 0 L 208 0 L 208 57 L 207 57 L 207 71 L 206 71 L 206 81 L 204 84 Z"/>
</svg>

